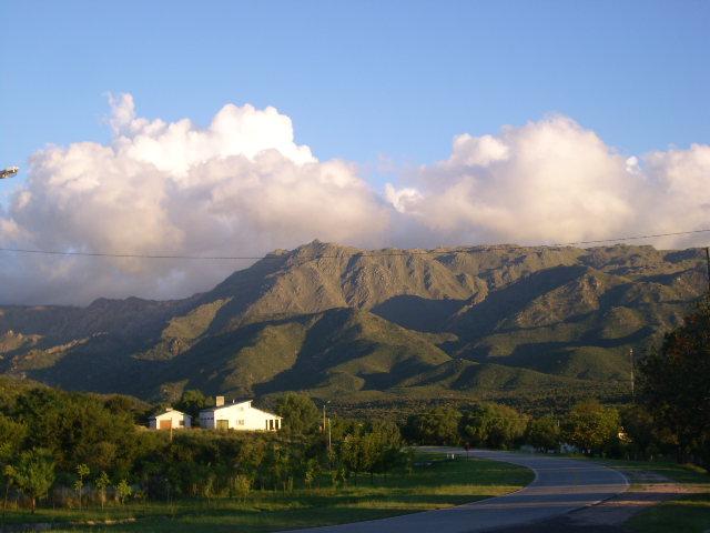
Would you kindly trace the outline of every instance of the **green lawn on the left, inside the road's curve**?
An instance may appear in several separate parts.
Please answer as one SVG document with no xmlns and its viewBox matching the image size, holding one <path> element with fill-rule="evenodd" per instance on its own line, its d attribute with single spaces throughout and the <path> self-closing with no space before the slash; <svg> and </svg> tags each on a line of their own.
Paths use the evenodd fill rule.
<svg viewBox="0 0 710 533">
<path fill-rule="evenodd" d="M 422 457 L 432 464 L 387 476 L 361 476 L 358 484 L 295 490 L 288 493 L 254 491 L 245 503 L 215 499 L 179 501 L 173 504 L 111 506 L 105 511 L 38 510 L 12 512 L 8 522 L 71 522 L 135 519 L 132 523 L 68 525 L 53 531 L 122 532 L 266 532 L 290 527 L 356 522 L 430 509 L 460 505 L 516 491 L 532 481 L 521 466 L 480 459 Z"/>
</svg>

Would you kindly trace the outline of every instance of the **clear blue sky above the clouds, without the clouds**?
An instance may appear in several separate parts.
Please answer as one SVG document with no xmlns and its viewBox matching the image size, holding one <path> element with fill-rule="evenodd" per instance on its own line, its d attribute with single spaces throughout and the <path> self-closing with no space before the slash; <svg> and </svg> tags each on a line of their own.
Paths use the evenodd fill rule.
<svg viewBox="0 0 710 533">
<path fill-rule="evenodd" d="M 6 0 L 0 19 L 2 164 L 106 141 L 108 91 L 199 124 L 275 105 L 320 159 L 366 168 L 550 112 L 622 153 L 710 141 L 708 1 Z"/>
</svg>

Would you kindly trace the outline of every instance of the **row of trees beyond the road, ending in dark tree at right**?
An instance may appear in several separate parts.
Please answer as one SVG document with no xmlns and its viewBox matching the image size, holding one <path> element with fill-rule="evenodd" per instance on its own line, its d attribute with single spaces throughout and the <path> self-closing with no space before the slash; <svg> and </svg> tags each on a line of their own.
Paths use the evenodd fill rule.
<svg viewBox="0 0 710 533">
<path fill-rule="evenodd" d="M 577 451 L 633 460 L 676 459 L 710 470 L 710 299 L 700 301 L 638 364 L 639 392 L 622 405 L 579 402 L 529 416 L 494 403 L 438 406 L 410 415 L 419 444 Z"/>
</svg>

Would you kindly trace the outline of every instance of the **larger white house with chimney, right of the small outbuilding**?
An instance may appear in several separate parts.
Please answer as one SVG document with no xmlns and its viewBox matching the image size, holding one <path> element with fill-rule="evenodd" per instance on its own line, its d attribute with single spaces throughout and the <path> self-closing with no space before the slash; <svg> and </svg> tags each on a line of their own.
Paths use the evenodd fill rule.
<svg viewBox="0 0 710 533">
<path fill-rule="evenodd" d="M 215 406 L 200 411 L 200 426 L 205 430 L 277 431 L 282 418 L 252 408 L 252 400 L 224 404 L 217 396 Z"/>
</svg>

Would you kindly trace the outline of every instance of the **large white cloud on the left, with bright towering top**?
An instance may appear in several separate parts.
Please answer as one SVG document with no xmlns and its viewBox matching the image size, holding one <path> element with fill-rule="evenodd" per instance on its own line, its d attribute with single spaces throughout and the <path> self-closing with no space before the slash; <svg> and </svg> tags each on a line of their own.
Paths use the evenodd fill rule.
<svg viewBox="0 0 710 533">
<path fill-rule="evenodd" d="M 389 208 L 352 163 L 318 161 L 274 108 L 227 104 L 205 129 L 112 100 L 109 145 L 49 147 L 0 212 L 0 245 L 131 254 L 260 255 L 315 238 L 377 245 Z M 247 263 L 0 255 L 6 302 L 183 296 Z"/>
</svg>

